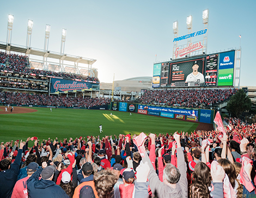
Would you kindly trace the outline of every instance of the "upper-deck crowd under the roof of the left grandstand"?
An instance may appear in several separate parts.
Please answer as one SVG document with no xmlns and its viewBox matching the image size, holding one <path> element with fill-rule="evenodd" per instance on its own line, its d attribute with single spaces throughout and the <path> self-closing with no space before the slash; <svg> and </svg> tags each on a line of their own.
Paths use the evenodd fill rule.
<svg viewBox="0 0 256 198">
<path fill-rule="evenodd" d="M 5 65 L 9 61 L 9 64 Z M 2 65 L 2 64 L 4 65 Z M 52 71 L 44 71 L 40 69 L 31 69 L 28 67 L 28 57 L 17 55 L 17 54 L 7 54 L 5 52 L 0 52 L 0 69 L 14 72 L 22 72 L 22 73 L 33 73 L 33 74 L 41 74 L 41 75 L 50 75 L 57 76 L 62 78 L 69 79 L 82 79 L 82 80 L 90 80 L 90 81 L 98 81 L 99 79 L 91 76 L 84 76 L 78 74 L 69 74 L 64 72 L 52 72 Z"/>
</svg>

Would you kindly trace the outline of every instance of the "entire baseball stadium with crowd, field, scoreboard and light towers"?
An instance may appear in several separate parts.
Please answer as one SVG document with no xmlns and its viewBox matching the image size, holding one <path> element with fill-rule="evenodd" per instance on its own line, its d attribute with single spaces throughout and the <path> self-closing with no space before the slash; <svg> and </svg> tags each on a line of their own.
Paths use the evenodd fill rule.
<svg viewBox="0 0 256 198">
<path fill-rule="evenodd" d="M 33 20 L 26 45 L 6 20 L 0 197 L 255 196 L 255 87 L 240 86 L 241 35 L 239 48 L 209 52 L 209 9 L 199 29 L 192 15 L 187 32 L 173 22 L 171 58 L 155 55 L 151 76 L 111 82 L 96 59 L 65 53 L 67 29 L 54 52 L 51 25 L 37 48 Z"/>
</svg>

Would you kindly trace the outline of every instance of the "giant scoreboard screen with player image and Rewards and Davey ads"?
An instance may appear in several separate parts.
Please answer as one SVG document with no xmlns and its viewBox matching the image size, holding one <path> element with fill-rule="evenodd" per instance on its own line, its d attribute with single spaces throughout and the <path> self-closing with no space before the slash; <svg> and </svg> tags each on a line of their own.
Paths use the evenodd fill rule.
<svg viewBox="0 0 256 198">
<path fill-rule="evenodd" d="M 154 64 L 153 88 L 233 86 L 235 51 Z"/>
</svg>

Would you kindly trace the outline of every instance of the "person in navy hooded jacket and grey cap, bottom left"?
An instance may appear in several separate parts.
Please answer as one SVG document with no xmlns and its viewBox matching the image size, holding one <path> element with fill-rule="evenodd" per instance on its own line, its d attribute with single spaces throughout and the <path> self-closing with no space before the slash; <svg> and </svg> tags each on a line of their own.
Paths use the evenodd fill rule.
<svg viewBox="0 0 256 198">
<path fill-rule="evenodd" d="M 27 180 L 29 197 L 52 197 L 61 198 L 69 196 L 65 191 L 55 182 L 52 181 L 54 175 L 54 167 L 52 165 L 47 166 L 46 162 L 42 163 L 42 167 L 35 171 L 35 173 Z M 41 175 L 41 180 L 39 176 Z"/>
</svg>

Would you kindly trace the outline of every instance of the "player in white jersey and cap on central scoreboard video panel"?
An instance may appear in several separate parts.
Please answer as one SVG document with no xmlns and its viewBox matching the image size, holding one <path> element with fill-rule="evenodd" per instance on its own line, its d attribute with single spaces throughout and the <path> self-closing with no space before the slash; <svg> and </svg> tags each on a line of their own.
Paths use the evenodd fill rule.
<svg viewBox="0 0 256 198">
<path fill-rule="evenodd" d="M 170 63 L 171 87 L 204 85 L 205 57 Z"/>
</svg>

